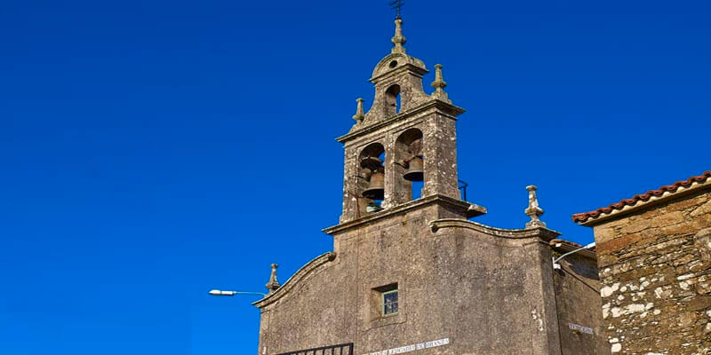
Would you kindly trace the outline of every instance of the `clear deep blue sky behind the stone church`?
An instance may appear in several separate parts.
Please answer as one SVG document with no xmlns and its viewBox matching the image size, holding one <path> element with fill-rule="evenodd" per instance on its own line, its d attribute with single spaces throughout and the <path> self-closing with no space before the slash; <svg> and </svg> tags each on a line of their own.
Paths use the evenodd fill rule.
<svg viewBox="0 0 711 355">
<path fill-rule="evenodd" d="M 475 220 L 572 213 L 711 169 L 707 1 L 410 0 Z M 0 353 L 247 354 L 251 296 L 332 248 L 387 0 L 0 3 Z M 427 75 L 425 83 L 433 80 Z M 318 345 L 318 344 L 315 344 Z"/>
</svg>

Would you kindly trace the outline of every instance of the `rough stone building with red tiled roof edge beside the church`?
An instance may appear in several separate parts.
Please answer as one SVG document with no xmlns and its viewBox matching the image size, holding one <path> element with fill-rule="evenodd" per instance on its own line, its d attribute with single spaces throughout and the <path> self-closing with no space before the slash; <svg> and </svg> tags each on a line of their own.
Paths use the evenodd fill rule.
<svg viewBox="0 0 711 355">
<path fill-rule="evenodd" d="M 594 228 L 612 353 L 711 353 L 711 171 L 573 221 Z"/>
</svg>

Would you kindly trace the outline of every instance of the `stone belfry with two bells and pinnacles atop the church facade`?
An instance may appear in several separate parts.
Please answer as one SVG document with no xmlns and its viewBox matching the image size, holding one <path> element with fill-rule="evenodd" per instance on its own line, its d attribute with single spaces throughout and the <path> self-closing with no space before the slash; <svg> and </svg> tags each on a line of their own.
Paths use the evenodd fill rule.
<svg viewBox="0 0 711 355">
<path fill-rule="evenodd" d="M 372 72 L 375 97 L 363 113 L 357 99 L 356 124 L 337 140 L 346 150 L 343 184 L 345 223 L 412 200 L 412 182 L 423 181 L 421 197 L 459 200 L 454 123 L 464 110 L 451 104 L 435 65 L 435 91 L 422 88 L 428 73 L 422 60 L 407 55 L 403 20 L 395 20 L 394 44 Z"/>
</svg>

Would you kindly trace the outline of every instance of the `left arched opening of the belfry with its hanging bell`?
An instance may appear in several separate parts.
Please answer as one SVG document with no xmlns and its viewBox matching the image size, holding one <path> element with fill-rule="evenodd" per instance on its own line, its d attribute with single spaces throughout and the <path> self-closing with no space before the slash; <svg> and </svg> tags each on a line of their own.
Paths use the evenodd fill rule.
<svg viewBox="0 0 711 355">
<path fill-rule="evenodd" d="M 358 209 L 360 214 L 382 209 L 385 198 L 385 147 L 379 143 L 366 146 L 358 156 Z"/>
</svg>

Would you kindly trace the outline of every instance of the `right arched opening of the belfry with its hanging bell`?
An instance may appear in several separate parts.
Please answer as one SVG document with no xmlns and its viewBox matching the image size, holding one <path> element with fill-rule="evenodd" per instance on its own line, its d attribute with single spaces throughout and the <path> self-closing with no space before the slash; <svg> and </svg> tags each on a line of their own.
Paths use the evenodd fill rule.
<svg viewBox="0 0 711 355">
<path fill-rule="evenodd" d="M 402 191 L 402 201 L 417 200 L 422 195 L 425 181 L 425 156 L 422 131 L 416 128 L 405 130 L 395 141 L 395 164 L 397 190 Z"/>
</svg>

